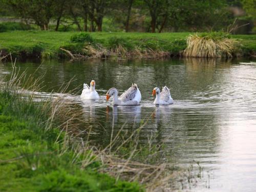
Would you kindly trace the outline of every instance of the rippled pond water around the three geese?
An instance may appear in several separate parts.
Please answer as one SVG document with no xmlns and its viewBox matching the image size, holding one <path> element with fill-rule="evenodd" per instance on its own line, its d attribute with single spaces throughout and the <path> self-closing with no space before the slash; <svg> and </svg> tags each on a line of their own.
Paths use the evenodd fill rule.
<svg viewBox="0 0 256 192">
<path fill-rule="evenodd" d="M 204 173 L 191 191 L 255 191 L 256 188 L 256 65 L 255 59 L 232 61 L 172 59 L 158 61 L 44 61 L 17 62 L 21 71 L 44 77 L 40 96 L 58 93 L 63 82 L 75 79 L 62 94 L 83 109 L 83 118 L 95 127 L 94 142 L 106 145 L 112 127 L 118 132 L 139 127 L 141 142 L 155 136 L 164 142 L 180 166 L 200 162 Z M 240 64 L 240 62 L 243 62 Z M 1 76 L 10 76 L 10 63 L 0 65 Z M 82 101 L 82 83 L 96 81 L 97 103 Z M 139 106 L 112 106 L 105 93 L 119 93 L 138 84 Z M 152 90 L 167 86 L 175 102 L 153 105 Z M 112 99 L 110 99 L 112 100 Z"/>
</svg>

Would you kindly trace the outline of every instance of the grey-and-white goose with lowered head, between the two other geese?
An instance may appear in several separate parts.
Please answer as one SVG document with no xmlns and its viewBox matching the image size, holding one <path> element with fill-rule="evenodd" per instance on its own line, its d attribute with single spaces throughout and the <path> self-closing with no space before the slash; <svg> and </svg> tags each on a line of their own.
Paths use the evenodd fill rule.
<svg viewBox="0 0 256 192">
<path fill-rule="evenodd" d="M 125 91 L 119 98 L 117 89 L 110 88 L 109 91 L 106 93 L 106 100 L 108 101 L 112 95 L 114 105 L 138 105 L 141 100 L 140 90 L 135 83 L 132 84 L 132 86 L 127 91 Z"/>
</svg>

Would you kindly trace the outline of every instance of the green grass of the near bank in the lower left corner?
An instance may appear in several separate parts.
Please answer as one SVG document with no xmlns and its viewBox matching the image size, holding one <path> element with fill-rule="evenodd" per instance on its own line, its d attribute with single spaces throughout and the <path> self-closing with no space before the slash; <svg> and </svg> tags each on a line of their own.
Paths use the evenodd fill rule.
<svg viewBox="0 0 256 192">
<path fill-rule="evenodd" d="M 97 161 L 81 169 L 90 152 L 77 157 L 63 146 L 66 135 L 54 128 L 57 124 L 46 129 L 49 104 L 1 89 L 0 191 L 143 191 L 137 183 L 98 173 Z"/>
</svg>

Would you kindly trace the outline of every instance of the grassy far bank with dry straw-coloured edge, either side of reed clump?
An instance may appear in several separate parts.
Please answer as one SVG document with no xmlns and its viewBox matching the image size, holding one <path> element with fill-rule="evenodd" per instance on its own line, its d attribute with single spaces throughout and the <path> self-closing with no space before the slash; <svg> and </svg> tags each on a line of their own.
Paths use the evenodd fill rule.
<svg viewBox="0 0 256 192">
<path fill-rule="evenodd" d="M 182 56 L 190 33 L 90 33 L 13 31 L 0 33 L 2 54 L 27 58 L 105 58 Z M 75 37 L 75 38 L 74 38 Z M 256 53 L 256 35 L 231 35 L 241 43 L 239 54 Z M 73 40 L 72 40 L 73 39 Z"/>
</svg>

